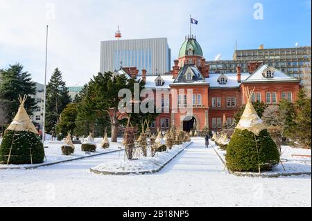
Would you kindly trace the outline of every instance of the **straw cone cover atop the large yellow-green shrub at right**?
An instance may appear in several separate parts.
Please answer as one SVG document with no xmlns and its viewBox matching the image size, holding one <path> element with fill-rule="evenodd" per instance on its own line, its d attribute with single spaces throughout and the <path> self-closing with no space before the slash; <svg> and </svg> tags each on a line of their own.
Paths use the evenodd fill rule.
<svg viewBox="0 0 312 221">
<path fill-rule="evenodd" d="M 259 118 L 257 112 L 254 110 L 254 107 L 251 103 L 251 95 L 254 90 L 249 91 L 248 87 L 245 89 L 245 96 L 247 97 L 247 104 L 243 114 L 241 115 L 241 119 L 235 128 L 239 130 L 248 130 L 255 135 L 259 135 L 259 133 L 266 129 L 266 126 L 263 124 L 261 118 Z"/>
</svg>

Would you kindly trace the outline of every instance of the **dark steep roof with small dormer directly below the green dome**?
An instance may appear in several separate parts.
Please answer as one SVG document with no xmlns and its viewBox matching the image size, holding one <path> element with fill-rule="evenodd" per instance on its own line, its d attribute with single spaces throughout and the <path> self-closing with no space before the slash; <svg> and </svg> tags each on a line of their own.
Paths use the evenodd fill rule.
<svg viewBox="0 0 312 221">
<path fill-rule="evenodd" d="M 188 73 L 191 73 L 192 79 L 187 80 L 186 76 Z M 180 69 L 177 74 L 177 78 L 173 81 L 175 83 L 193 83 L 193 82 L 205 82 L 205 78 L 200 73 L 200 70 L 194 64 L 184 64 L 182 69 Z"/>
</svg>

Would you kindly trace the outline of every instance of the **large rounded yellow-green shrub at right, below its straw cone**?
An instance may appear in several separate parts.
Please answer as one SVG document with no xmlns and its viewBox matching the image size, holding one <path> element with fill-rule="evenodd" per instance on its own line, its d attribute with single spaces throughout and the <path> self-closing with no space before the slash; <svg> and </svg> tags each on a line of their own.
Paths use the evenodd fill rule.
<svg viewBox="0 0 312 221">
<path fill-rule="evenodd" d="M 232 171 L 269 170 L 279 163 L 279 150 L 267 130 L 256 136 L 259 159 L 254 134 L 248 130 L 236 129 L 232 135 L 225 156 L 227 168 Z"/>
</svg>

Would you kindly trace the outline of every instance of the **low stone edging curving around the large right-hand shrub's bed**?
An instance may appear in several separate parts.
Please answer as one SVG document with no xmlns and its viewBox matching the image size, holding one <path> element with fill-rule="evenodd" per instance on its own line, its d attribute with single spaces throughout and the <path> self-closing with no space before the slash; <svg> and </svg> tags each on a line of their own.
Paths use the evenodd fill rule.
<svg viewBox="0 0 312 221">
<path fill-rule="evenodd" d="M 214 146 L 211 145 L 211 148 L 214 149 Z M 216 149 L 214 149 L 214 152 L 216 152 L 220 161 L 223 163 L 225 168 L 227 168 L 225 161 L 220 156 L 218 151 L 216 151 Z M 229 172 L 229 174 L 235 175 L 236 177 L 263 177 L 263 178 L 267 178 L 267 177 L 290 177 L 290 176 L 300 176 L 300 175 L 311 175 L 311 172 L 275 173 L 275 174 L 239 173 L 239 172 L 234 172 L 232 170 L 229 170 L 229 168 L 227 168 L 227 171 Z"/>
</svg>

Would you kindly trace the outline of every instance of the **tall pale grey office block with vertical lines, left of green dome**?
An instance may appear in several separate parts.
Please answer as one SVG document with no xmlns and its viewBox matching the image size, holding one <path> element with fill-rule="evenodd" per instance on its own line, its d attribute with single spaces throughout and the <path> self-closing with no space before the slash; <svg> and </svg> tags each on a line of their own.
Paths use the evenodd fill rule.
<svg viewBox="0 0 312 221">
<path fill-rule="evenodd" d="M 101 73 L 120 67 L 137 67 L 147 75 L 166 73 L 171 69 L 171 49 L 165 37 L 125 39 L 101 42 Z"/>
</svg>

